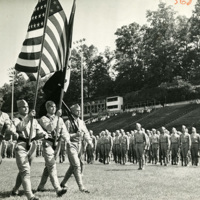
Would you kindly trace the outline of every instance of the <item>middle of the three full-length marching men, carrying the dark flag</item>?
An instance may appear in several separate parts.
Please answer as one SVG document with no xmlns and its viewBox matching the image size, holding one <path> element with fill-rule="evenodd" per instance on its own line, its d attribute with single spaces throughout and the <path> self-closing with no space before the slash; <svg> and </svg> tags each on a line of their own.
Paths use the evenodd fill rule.
<svg viewBox="0 0 200 200">
<path fill-rule="evenodd" d="M 61 188 L 58 177 L 57 177 L 57 169 L 56 169 L 56 151 L 59 151 L 59 146 L 55 145 L 55 135 L 58 135 L 58 140 L 61 138 L 64 139 L 67 143 L 69 141 L 69 133 L 66 129 L 64 121 L 61 116 L 61 110 L 56 112 L 56 105 L 53 101 L 46 102 L 47 115 L 43 116 L 40 119 L 40 124 L 44 130 L 48 133 L 48 138 L 43 140 L 43 156 L 45 160 L 45 168 L 42 174 L 42 178 L 40 184 L 38 186 L 37 191 L 44 191 L 44 186 L 47 182 L 48 177 L 50 177 L 51 183 L 57 192 L 57 196 L 62 196 L 67 192 L 65 188 Z M 58 124 L 59 123 L 59 124 Z M 58 129 L 58 130 L 57 130 Z"/>
</svg>

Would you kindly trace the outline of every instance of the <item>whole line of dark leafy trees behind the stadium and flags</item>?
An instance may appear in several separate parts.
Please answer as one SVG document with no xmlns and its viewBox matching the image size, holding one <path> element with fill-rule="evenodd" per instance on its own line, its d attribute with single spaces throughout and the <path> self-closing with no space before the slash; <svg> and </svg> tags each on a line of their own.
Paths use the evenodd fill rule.
<svg viewBox="0 0 200 200">
<path fill-rule="evenodd" d="M 81 54 L 83 54 L 84 99 L 120 95 L 125 104 L 141 101 L 175 102 L 200 97 L 200 0 L 192 16 L 178 15 L 160 2 L 146 12 L 146 24 L 133 22 L 118 28 L 116 49 L 98 52 L 83 44 L 71 52 L 71 78 L 64 97 L 68 105 L 80 103 Z M 34 99 L 35 83 L 16 76 L 14 98 Z M 40 82 L 38 109 L 45 100 Z M 9 112 L 12 87 L 5 84 L 4 110 Z M 16 108 L 16 106 L 15 106 Z"/>
</svg>

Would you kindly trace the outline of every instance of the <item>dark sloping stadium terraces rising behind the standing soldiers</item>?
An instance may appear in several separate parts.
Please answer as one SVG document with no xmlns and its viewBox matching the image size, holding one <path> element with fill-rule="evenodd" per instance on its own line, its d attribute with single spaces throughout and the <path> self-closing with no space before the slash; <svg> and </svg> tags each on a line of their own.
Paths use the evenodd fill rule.
<svg viewBox="0 0 200 200">
<path fill-rule="evenodd" d="M 170 106 L 156 109 L 151 113 L 137 114 L 136 116 L 132 116 L 132 113 L 122 113 L 105 121 L 89 124 L 87 127 L 92 129 L 94 134 L 98 134 L 105 129 L 111 132 L 117 129 L 130 131 L 135 129 L 135 123 L 138 122 L 145 129 L 165 126 L 169 129 L 176 127 L 180 130 L 181 125 L 184 124 L 188 127 L 195 126 L 200 131 L 199 113 L 199 104 Z"/>
</svg>

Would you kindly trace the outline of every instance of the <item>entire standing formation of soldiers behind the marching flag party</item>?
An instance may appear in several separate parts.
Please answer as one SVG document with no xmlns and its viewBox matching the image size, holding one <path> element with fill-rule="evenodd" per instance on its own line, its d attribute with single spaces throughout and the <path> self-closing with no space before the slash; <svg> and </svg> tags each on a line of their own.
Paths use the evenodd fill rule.
<svg viewBox="0 0 200 200">
<path fill-rule="evenodd" d="M 145 130 L 140 124 L 136 124 L 136 130 L 125 132 L 123 129 L 109 132 L 108 130 L 94 136 L 89 130 L 91 145 L 87 145 L 82 138 L 82 153 L 80 156 L 82 165 L 84 161 L 93 164 L 99 161 L 109 164 L 111 161 L 125 165 L 127 162 L 139 164 L 140 170 L 144 169 L 147 163 L 167 166 L 179 165 L 188 166 L 199 165 L 200 135 L 196 128 L 192 127 L 188 133 L 186 126 L 182 126 L 182 131 L 172 128 L 171 131 L 165 127 L 160 129 Z M 36 141 L 36 157 L 43 156 L 43 140 Z M 61 139 L 59 162 L 63 163 L 67 155 L 67 143 Z M 2 141 L 2 157 L 14 158 L 16 140 Z M 83 167 L 82 167 L 83 170 Z"/>
</svg>

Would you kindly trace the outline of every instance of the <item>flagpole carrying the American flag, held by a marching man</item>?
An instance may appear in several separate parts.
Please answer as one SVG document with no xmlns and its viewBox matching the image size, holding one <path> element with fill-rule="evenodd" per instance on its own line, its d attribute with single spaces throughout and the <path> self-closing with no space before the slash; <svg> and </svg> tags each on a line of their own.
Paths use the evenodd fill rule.
<svg viewBox="0 0 200 200">
<path fill-rule="evenodd" d="M 50 5 L 51 5 L 51 0 L 47 0 L 47 9 L 45 12 L 45 17 L 44 17 L 44 30 L 43 30 L 42 43 L 41 43 L 40 60 L 39 60 L 38 71 L 37 71 L 36 90 L 35 90 L 33 110 L 36 109 L 36 103 L 37 103 L 39 78 L 40 78 L 40 71 L 41 71 L 41 61 L 42 61 L 41 58 L 42 58 L 42 52 L 43 52 L 43 47 L 44 47 L 44 38 L 45 38 L 45 32 L 46 32 L 46 26 L 47 26 L 47 19 L 49 16 Z M 27 148 L 30 148 L 31 139 L 32 139 L 32 135 L 33 135 L 32 128 L 33 128 L 33 119 L 31 120 L 30 135 L 29 135 L 29 139 L 28 139 L 28 147 Z"/>
</svg>

